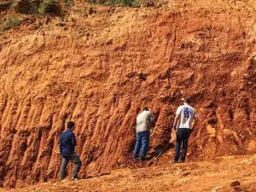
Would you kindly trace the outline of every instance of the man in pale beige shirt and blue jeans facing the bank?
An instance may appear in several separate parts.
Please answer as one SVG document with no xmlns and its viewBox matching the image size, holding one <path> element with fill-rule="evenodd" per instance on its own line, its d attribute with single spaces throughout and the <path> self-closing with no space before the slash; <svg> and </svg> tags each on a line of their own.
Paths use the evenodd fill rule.
<svg viewBox="0 0 256 192">
<path fill-rule="evenodd" d="M 148 152 L 150 129 L 153 121 L 154 121 L 154 115 L 150 113 L 150 110 L 147 107 L 143 108 L 143 112 L 137 115 L 137 119 L 136 119 L 137 137 L 136 137 L 135 148 L 132 154 L 132 157 L 134 159 L 138 157 L 140 148 L 142 148 L 141 154 L 140 154 L 140 160 L 147 160 L 145 156 Z"/>
</svg>

